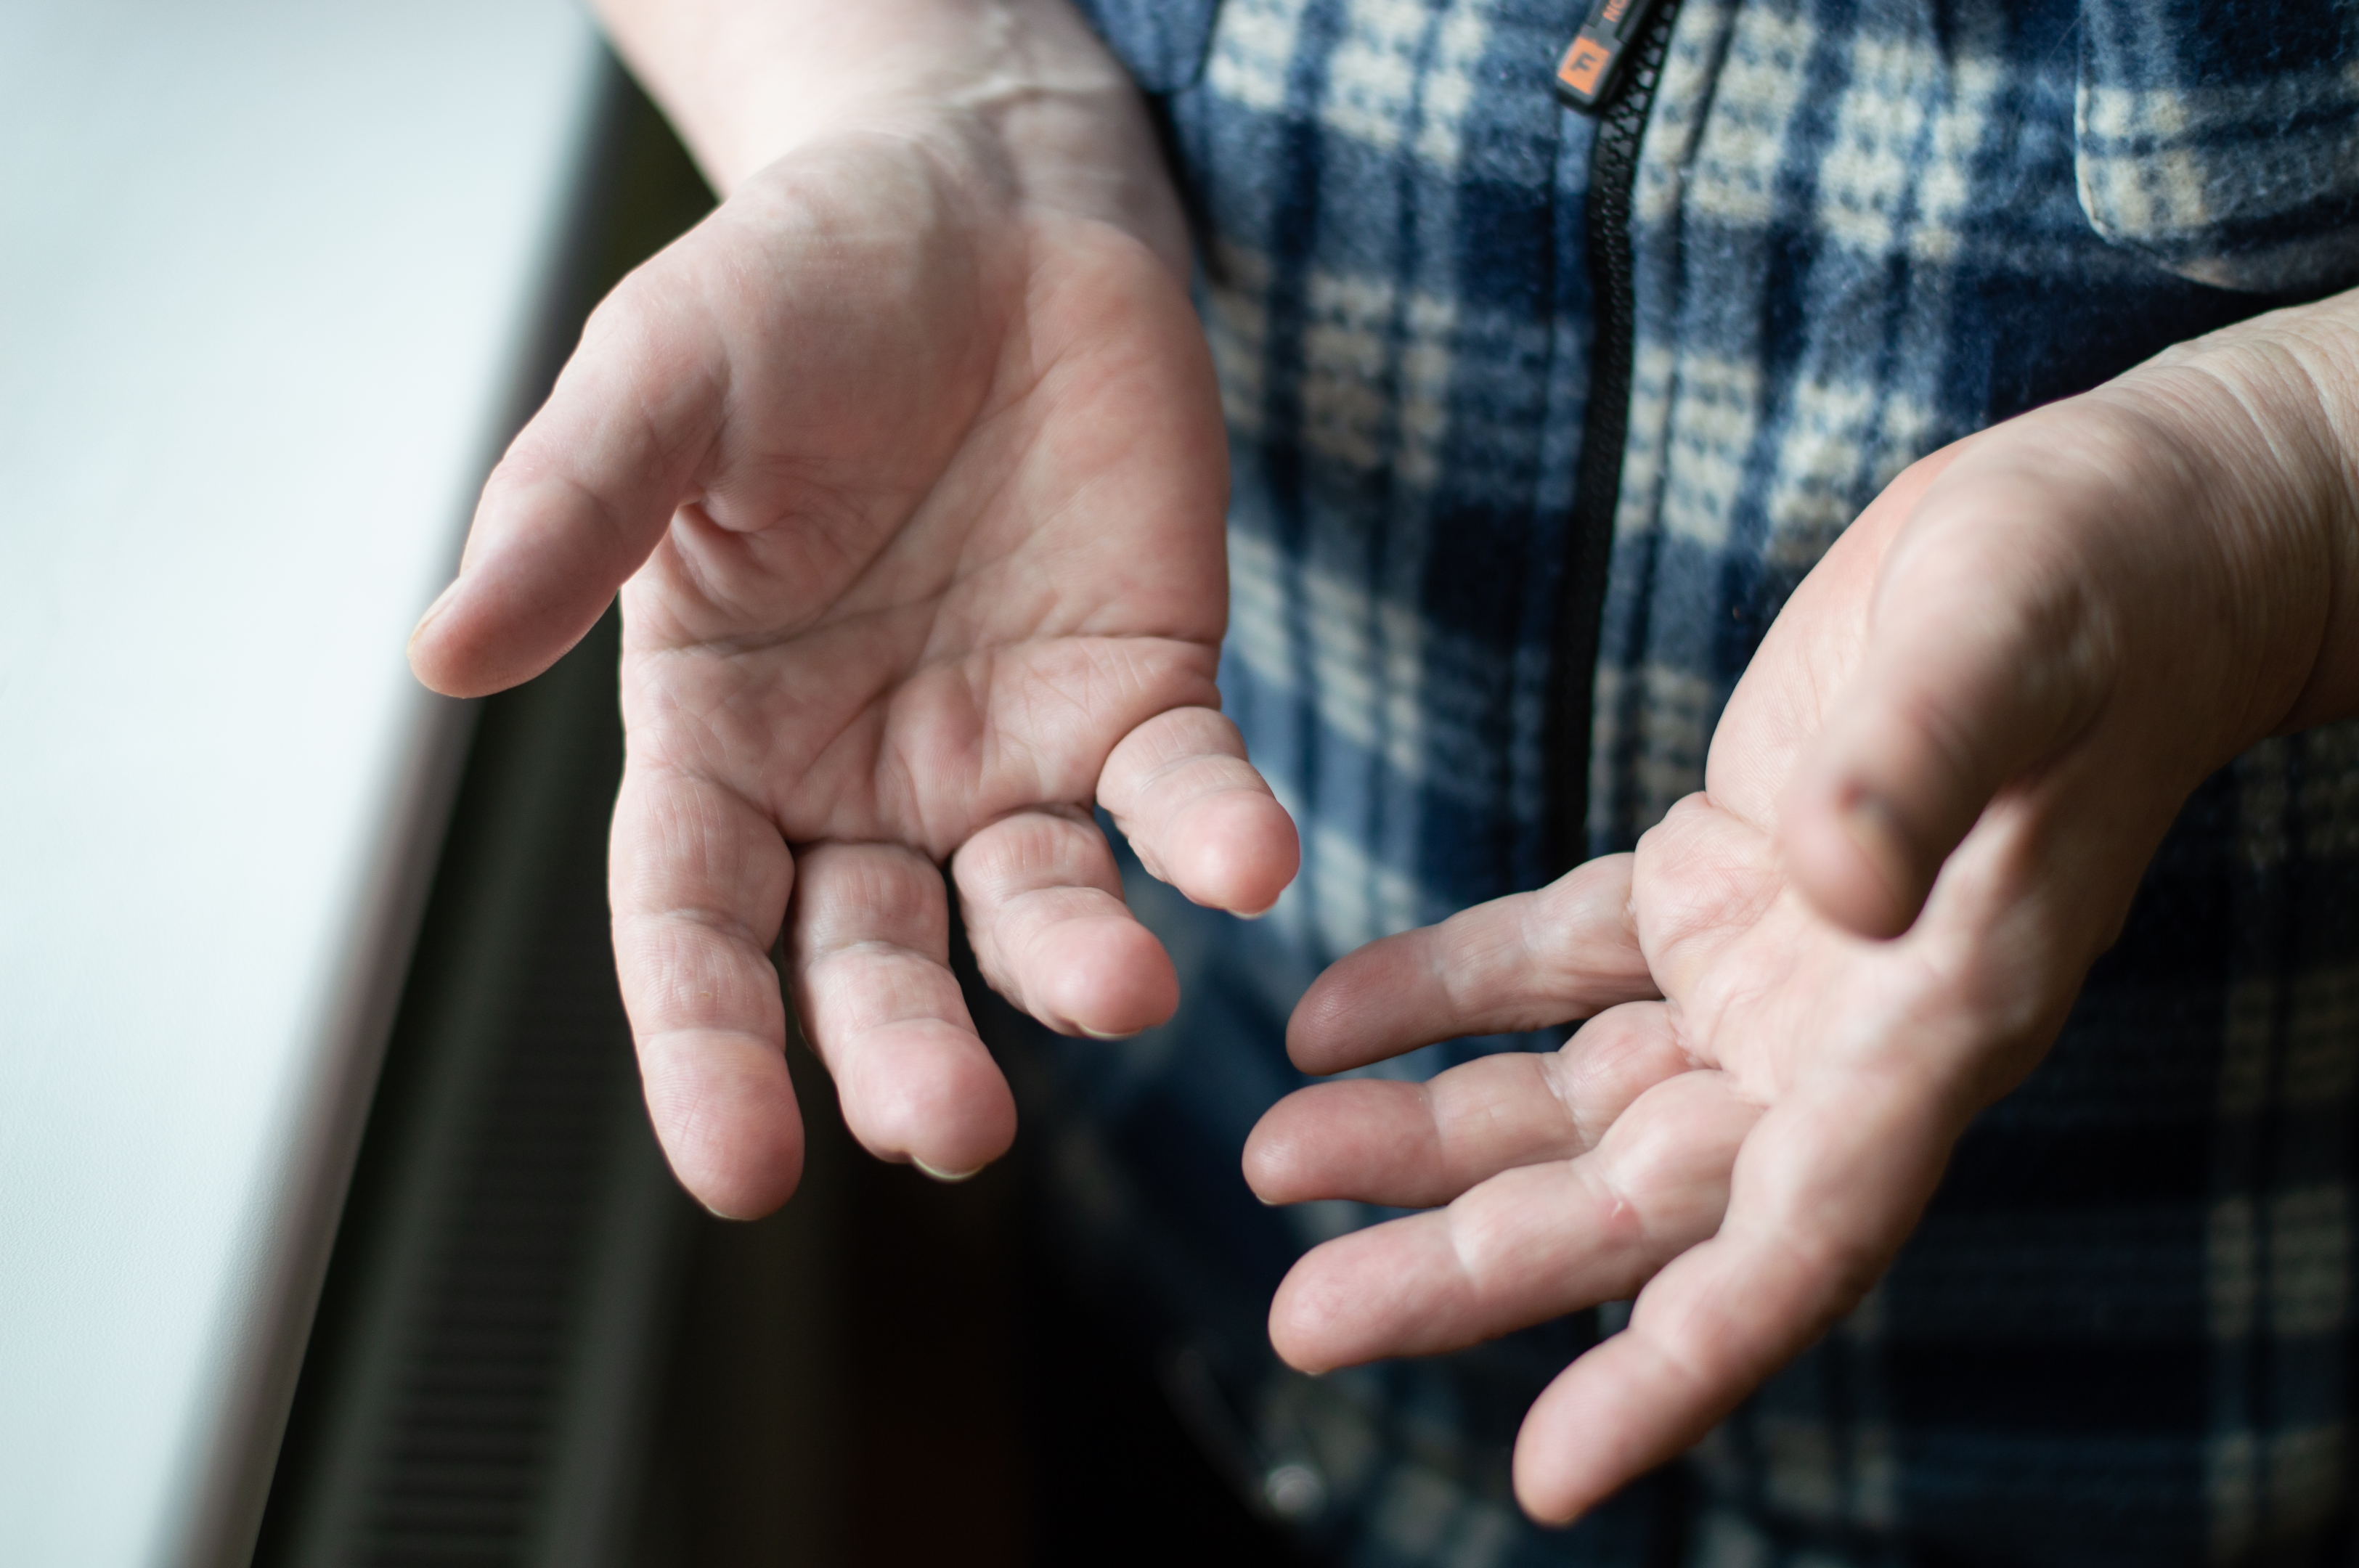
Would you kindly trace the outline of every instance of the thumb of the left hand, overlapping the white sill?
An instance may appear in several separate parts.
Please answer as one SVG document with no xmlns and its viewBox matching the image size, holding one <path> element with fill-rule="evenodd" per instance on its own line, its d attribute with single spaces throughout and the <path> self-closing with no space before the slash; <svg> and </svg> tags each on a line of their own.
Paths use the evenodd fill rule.
<svg viewBox="0 0 2359 1568">
<path fill-rule="evenodd" d="M 484 483 L 460 575 L 410 634 L 410 667 L 434 691 L 481 696 L 540 674 L 663 540 L 724 387 L 722 347 L 675 257 L 590 316 L 550 401 Z"/>
</svg>

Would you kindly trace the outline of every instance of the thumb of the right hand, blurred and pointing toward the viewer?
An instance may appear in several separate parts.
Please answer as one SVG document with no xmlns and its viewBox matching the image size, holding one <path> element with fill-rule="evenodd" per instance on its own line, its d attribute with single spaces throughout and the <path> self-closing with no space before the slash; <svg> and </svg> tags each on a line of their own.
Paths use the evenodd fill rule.
<svg viewBox="0 0 2359 1568">
<path fill-rule="evenodd" d="M 2114 639 L 2076 500 L 1953 465 L 1885 552 L 1857 674 L 1779 806 L 1786 872 L 1835 924 L 1906 931 L 1991 797 L 2095 719 Z"/>
</svg>

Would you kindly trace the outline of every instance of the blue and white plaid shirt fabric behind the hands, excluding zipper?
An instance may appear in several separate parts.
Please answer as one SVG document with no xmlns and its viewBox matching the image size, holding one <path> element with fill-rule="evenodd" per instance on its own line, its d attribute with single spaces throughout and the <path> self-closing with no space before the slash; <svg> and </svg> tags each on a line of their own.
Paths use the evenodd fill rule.
<svg viewBox="0 0 2359 1568">
<path fill-rule="evenodd" d="M 2203 785 L 1885 1283 L 1677 1474 L 1564 1535 L 1514 1514 L 1514 1419 L 1588 1320 L 1272 1361 L 1288 1261 L 1375 1217 L 1243 1188 L 1246 1129 L 1300 1082 L 1286 1012 L 1361 941 L 1548 872 L 1590 349 L 1590 123 L 1548 71 L 1583 7 L 1085 9 L 1161 94 L 1198 222 L 1222 691 L 1305 870 L 1257 924 L 1135 879 L 1182 1014 L 1012 1059 L 1083 1254 L 1213 1368 L 1241 1481 L 1283 1471 L 1279 1511 L 1368 1566 L 2350 1561 L 2350 726 Z M 1595 851 L 1698 788 L 1762 630 L 1913 457 L 2274 302 L 2236 290 L 2359 281 L 2354 31 L 2328 0 L 1684 0 L 1635 189 Z"/>
</svg>

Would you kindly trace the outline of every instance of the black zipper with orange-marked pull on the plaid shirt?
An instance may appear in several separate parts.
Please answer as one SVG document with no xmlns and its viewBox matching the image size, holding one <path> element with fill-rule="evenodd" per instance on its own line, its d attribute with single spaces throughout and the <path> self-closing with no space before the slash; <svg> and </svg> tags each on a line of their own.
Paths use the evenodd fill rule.
<svg viewBox="0 0 2359 1568">
<path fill-rule="evenodd" d="M 1597 116 L 1585 215 L 1595 321 L 1590 394 L 1581 422 L 1581 476 L 1564 561 L 1564 604 L 1548 663 L 1552 877 L 1588 858 L 1597 632 L 1606 599 L 1606 559 L 1614 549 L 1614 512 L 1621 500 L 1623 439 L 1630 434 L 1630 358 L 1637 332 L 1630 193 L 1637 184 L 1647 111 L 1654 108 L 1677 12 L 1680 0 L 1597 0 L 1552 78 L 1559 99 Z M 1604 50 L 1604 59 L 1597 59 L 1595 50 Z M 1588 101 L 1581 83 L 1595 87 Z"/>
</svg>

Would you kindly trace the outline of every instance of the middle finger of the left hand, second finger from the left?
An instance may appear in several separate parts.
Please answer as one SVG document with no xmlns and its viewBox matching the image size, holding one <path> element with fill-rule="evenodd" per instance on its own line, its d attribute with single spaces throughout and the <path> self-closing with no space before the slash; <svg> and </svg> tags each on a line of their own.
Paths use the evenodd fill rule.
<svg viewBox="0 0 2359 1568">
<path fill-rule="evenodd" d="M 786 955 L 802 1033 L 868 1153 L 953 1181 L 1007 1153 L 1017 1103 L 951 974 L 932 861 L 901 844 L 804 849 Z"/>
</svg>

